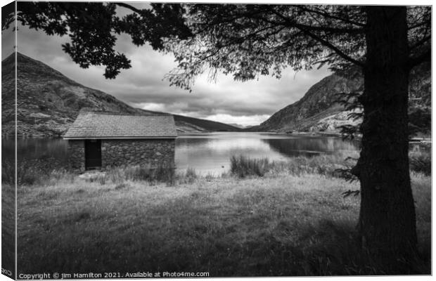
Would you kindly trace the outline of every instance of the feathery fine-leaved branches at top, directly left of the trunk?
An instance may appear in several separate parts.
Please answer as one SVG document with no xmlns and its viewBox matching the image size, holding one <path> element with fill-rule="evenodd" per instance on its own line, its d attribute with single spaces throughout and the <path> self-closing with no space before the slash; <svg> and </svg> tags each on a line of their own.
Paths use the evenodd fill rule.
<svg viewBox="0 0 436 281">
<path fill-rule="evenodd" d="M 168 79 L 184 89 L 207 69 L 212 78 L 219 70 L 245 81 L 259 74 L 279 78 L 288 66 L 308 70 L 316 64 L 362 64 L 364 16 L 359 8 L 198 4 L 186 10 L 194 36 L 168 39 L 166 45 L 179 62 Z"/>
</svg>

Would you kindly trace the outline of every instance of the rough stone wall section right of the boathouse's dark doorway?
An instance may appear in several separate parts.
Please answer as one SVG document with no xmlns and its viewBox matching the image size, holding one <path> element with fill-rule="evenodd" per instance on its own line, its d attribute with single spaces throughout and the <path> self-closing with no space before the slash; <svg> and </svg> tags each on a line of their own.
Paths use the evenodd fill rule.
<svg viewBox="0 0 436 281">
<path fill-rule="evenodd" d="M 174 166 L 174 139 L 101 140 L 101 164 L 110 166 L 165 164 Z"/>
</svg>

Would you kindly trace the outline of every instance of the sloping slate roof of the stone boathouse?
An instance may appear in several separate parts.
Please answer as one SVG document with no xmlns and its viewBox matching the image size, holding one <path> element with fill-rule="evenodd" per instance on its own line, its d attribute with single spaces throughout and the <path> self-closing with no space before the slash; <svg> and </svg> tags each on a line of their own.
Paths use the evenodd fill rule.
<svg viewBox="0 0 436 281">
<path fill-rule="evenodd" d="M 80 112 L 63 136 L 86 138 L 176 138 L 172 115 L 127 115 L 112 112 Z"/>
</svg>

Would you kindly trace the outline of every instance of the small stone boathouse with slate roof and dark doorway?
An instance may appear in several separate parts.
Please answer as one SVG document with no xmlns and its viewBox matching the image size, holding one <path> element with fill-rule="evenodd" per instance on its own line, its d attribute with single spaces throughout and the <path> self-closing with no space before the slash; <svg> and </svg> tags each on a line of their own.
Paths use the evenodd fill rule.
<svg viewBox="0 0 436 281">
<path fill-rule="evenodd" d="M 80 112 L 63 136 L 75 171 L 113 166 L 174 166 L 177 129 L 172 115 Z"/>
</svg>

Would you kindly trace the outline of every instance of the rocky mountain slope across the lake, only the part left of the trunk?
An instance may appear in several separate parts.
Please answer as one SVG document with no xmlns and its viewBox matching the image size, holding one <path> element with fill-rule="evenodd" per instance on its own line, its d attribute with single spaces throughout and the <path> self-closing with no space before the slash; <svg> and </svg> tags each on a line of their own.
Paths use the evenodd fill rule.
<svg viewBox="0 0 436 281">
<path fill-rule="evenodd" d="M 338 94 L 362 89 L 361 79 L 345 79 L 331 74 L 310 87 L 296 103 L 278 110 L 259 126 L 251 127 L 250 131 L 313 131 L 321 120 L 343 124 L 342 117 L 338 122 L 333 121 L 336 115 L 344 115 L 344 106 L 337 102 Z"/>
</svg>

